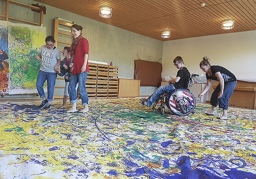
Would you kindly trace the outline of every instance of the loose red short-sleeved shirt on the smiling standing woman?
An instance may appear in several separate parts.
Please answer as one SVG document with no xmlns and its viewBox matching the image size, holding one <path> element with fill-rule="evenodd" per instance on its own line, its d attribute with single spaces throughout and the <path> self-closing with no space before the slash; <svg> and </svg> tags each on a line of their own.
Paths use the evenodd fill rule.
<svg viewBox="0 0 256 179">
<path fill-rule="evenodd" d="M 76 75 L 78 73 L 81 73 L 81 68 L 84 64 L 84 55 L 85 54 L 89 55 L 89 43 L 86 38 L 82 38 L 82 40 L 76 46 L 76 50 L 74 53 L 74 70 L 73 70 L 72 74 Z M 89 72 L 88 61 L 86 64 L 85 71 Z"/>
</svg>

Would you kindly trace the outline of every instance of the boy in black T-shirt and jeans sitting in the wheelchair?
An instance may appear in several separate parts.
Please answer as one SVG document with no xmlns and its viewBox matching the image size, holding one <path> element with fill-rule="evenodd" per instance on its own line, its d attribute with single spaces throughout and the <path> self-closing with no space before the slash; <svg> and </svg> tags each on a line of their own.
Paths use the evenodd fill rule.
<svg viewBox="0 0 256 179">
<path fill-rule="evenodd" d="M 178 68 L 177 76 L 176 78 L 169 80 L 169 85 L 166 86 L 160 86 L 156 91 L 147 99 L 142 98 L 140 99 L 140 103 L 142 105 L 145 105 L 147 107 L 151 107 L 152 104 L 158 100 L 161 93 L 171 93 L 172 91 L 178 89 L 178 88 L 187 88 L 187 80 L 188 76 L 190 76 L 190 73 L 188 69 L 184 66 L 184 62 L 182 57 L 177 56 L 173 60 L 174 66 Z M 192 80 L 192 84 L 194 81 Z"/>
</svg>

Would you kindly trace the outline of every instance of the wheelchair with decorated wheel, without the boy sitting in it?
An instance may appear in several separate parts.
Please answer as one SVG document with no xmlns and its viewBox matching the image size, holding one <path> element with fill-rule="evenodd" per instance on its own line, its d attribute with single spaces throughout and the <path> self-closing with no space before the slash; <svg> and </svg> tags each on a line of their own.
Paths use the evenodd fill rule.
<svg viewBox="0 0 256 179">
<path fill-rule="evenodd" d="M 152 109 L 155 111 L 156 105 L 160 103 L 158 111 L 164 114 L 165 106 L 176 115 L 188 115 L 193 112 L 196 107 L 196 98 L 193 93 L 188 90 L 192 82 L 192 78 L 196 78 L 198 74 L 191 74 L 186 82 L 185 88 L 178 88 L 171 93 L 161 93 L 160 97 L 153 104 Z"/>
</svg>

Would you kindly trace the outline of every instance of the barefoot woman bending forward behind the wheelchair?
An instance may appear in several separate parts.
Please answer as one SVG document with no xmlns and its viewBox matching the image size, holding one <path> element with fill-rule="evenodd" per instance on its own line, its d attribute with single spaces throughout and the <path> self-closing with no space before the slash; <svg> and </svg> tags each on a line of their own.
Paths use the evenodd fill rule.
<svg viewBox="0 0 256 179">
<path fill-rule="evenodd" d="M 211 86 L 211 80 L 219 81 L 220 84 L 216 87 L 214 92 L 212 93 L 212 97 L 210 103 L 212 105 L 212 109 L 210 113 L 206 113 L 206 115 L 215 115 L 215 108 L 219 105 L 219 108 L 223 109 L 223 114 L 221 117 L 217 117 L 219 119 L 228 119 L 227 117 L 227 109 L 228 109 L 228 100 L 231 97 L 234 88 L 236 87 L 236 77 L 230 71 L 222 66 L 211 66 L 210 58 L 205 56 L 200 62 L 200 68 L 203 72 L 206 73 L 207 84 L 202 91 L 198 95 L 198 97 L 202 97 Z"/>
</svg>

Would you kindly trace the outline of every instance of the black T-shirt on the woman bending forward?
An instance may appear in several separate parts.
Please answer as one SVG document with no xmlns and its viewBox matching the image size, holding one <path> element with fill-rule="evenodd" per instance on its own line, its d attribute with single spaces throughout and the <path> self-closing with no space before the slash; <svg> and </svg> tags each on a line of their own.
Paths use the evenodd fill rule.
<svg viewBox="0 0 256 179">
<path fill-rule="evenodd" d="M 222 67 L 222 66 L 218 66 L 218 65 L 214 65 L 211 67 L 211 71 L 212 71 L 212 76 L 209 76 L 208 73 L 206 73 L 206 79 L 211 79 L 211 80 L 215 80 L 215 81 L 219 81 L 219 79 L 216 77 L 216 73 L 220 72 L 222 78 L 224 79 L 224 82 L 235 82 L 236 81 L 236 77 L 234 76 L 234 74 L 232 74 L 229 70 L 227 70 L 226 68 Z"/>
</svg>

